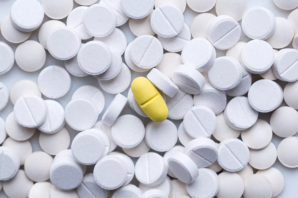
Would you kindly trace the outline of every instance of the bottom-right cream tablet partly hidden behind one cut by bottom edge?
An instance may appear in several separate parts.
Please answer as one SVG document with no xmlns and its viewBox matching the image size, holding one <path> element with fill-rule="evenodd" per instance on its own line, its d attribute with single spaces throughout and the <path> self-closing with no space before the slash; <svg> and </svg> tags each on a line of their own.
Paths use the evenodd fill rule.
<svg viewBox="0 0 298 198">
<path fill-rule="evenodd" d="M 266 170 L 259 170 L 256 174 L 261 174 L 270 181 L 273 189 L 272 197 L 276 197 L 283 191 L 285 180 L 283 174 L 277 168 L 271 167 Z"/>
</svg>

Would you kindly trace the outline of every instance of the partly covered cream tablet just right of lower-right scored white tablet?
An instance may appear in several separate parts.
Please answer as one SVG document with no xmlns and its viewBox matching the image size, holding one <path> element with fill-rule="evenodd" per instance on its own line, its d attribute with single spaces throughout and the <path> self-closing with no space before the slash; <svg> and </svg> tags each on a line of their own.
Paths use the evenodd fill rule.
<svg viewBox="0 0 298 198">
<path fill-rule="evenodd" d="M 270 168 L 277 158 L 277 151 L 272 142 L 261 150 L 249 150 L 249 164 L 258 170 Z"/>
</svg>

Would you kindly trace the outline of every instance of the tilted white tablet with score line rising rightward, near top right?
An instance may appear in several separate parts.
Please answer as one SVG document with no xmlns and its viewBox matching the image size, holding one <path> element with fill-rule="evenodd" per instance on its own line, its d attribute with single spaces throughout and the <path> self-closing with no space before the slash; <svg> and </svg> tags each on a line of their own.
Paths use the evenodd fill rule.
<svg viewBox="0 0 298 198">
<path fill-rule="evenodd" d="M 210 21 L 207 28 L 207 38 L 218 49 L 229 49 L 240 39 L 241 27 L 230 16 L 221 15 Z"/>
</svg>

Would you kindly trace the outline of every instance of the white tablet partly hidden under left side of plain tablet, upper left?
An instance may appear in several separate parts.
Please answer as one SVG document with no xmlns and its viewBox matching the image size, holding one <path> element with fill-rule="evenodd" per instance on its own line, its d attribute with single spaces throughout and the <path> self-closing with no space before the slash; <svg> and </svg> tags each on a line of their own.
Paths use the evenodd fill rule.
<svg viewBox="0 0 298 198">
<path fill-rule="evenodd" d="M 73 9 L 66 20 L 66 25 L 72 28 L 82 40 L 89 39 L 92 36 L 88 34 L 83 26 L 83 15 L 88 9 L 87 6 L 79 6 Z"/>
</svg>

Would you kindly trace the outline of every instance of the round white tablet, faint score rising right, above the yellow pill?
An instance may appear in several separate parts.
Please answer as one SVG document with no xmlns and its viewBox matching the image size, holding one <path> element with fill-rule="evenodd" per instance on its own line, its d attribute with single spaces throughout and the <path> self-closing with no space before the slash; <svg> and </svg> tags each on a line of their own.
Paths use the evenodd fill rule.
<svg viewBox="0 0 298 198">
<path fill-rule="evenodd" d="M 137 37 L 130 47 L 130 57 L 137 66 L 148 69 L 162 60 L 163 48 L 160 41 L 151 35 Z"/>
</svg>

